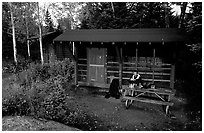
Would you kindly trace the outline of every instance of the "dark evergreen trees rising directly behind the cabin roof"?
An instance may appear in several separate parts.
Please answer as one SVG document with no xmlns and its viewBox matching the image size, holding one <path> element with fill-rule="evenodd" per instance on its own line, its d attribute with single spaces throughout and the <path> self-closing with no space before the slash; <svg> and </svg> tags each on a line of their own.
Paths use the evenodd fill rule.
<svg viewBox="0 0 204 133">
<path fill-rule="evenodd" d="M 82 29 L 164 28 L 165 16 L 175 27 L 169 4 L 159 2 L 87 3 L 81 13 Z M 168 11 L 168 14 L 165 12 Z"/>
</svg>

